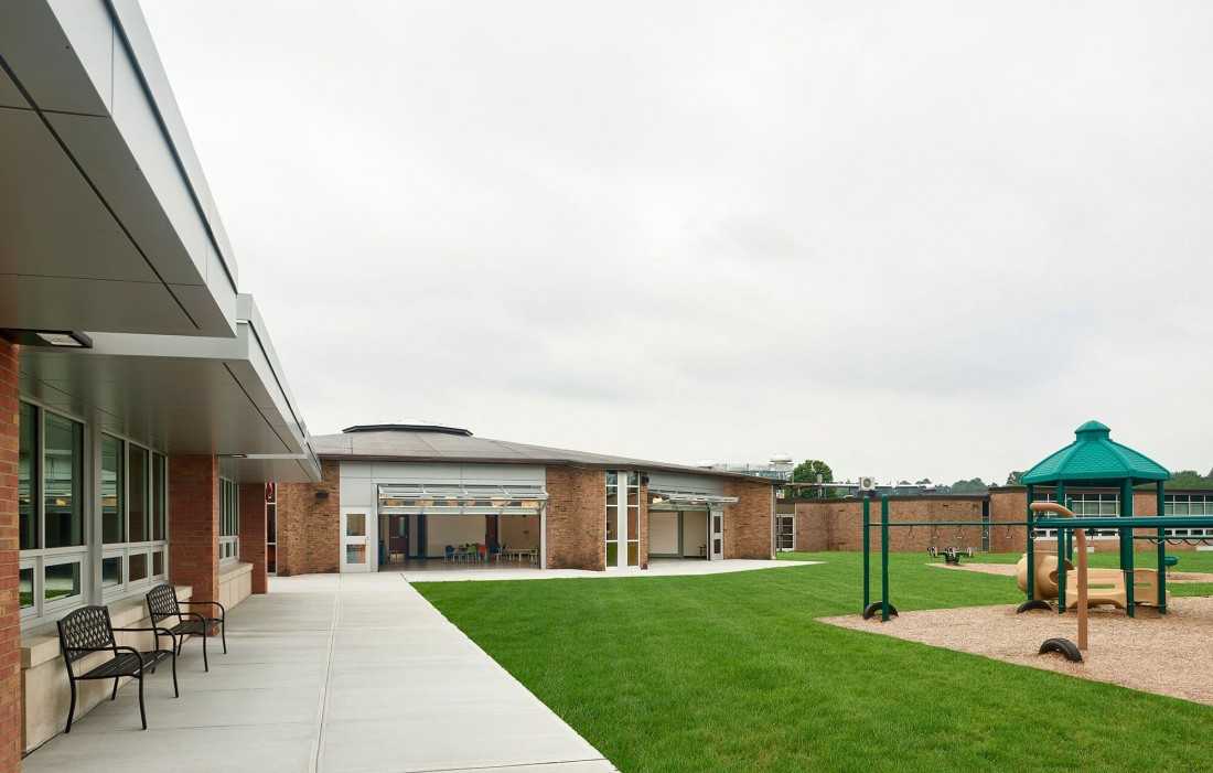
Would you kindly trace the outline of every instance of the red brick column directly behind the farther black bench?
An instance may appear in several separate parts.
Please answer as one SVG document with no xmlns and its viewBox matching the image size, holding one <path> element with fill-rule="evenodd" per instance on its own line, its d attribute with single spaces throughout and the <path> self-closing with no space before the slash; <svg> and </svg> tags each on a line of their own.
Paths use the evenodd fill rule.
<svg viewBox="0 0 1213 773">
<path fill-rule="evenodd" d="M 169 457 L 169 579 L 220 599 L 220 460 Z"/>
</svg>

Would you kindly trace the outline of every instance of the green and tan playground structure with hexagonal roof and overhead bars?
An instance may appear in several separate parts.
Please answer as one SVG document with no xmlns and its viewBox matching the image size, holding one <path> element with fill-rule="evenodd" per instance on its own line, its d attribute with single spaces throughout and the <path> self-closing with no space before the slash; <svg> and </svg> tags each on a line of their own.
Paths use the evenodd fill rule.
<svg viewBox="0 0 1213 773">
<path fill-rule="evenodd" d="M 1082 621 L 1083 635 L 1077 649 L 1086 648 L 1086 612 L 1090 603 L 1114 603 L 1126 610 L 1129 616 L 1134 616 L 1138 604 L 1157 607 L 1160 614 L 1167 614 L 1167 602 L 1171 593 L 1167 591 L 1167 567 L 1166 545 L 1175 541 L 1175 538 L 1167 536 L 1167 529 L 1188 529 L 1200 527 L 1213 527 L 1213 516 L 1166 516 L 1164 501 L 1166 481 L 1171 473 L 1161 465 L 1147 456 L 1111 441 L 1110 430 L 1098 421 L 1088 421 L 1075 431 L 1075 442 L 1070 445 L 1050 454 L 1043 461 L 1029 470 L 1023 481 L 1027 485 L 1027 513 L 1024 522 L 890 522 L 888 496 L 881 498 L 881 521 L 872 523 L 870 517 L 870 500 L 864 498 L 864 523 L 862 523 L 862 547 L 864 547 L 864 618 L 871 618 L 877 612 L 881 620 L 888 621 L 890 615 L 896 615 L 896 608 L 889 603 L 889 578 L 888 578 L 888 552 L 889 552 L 889 528 L 890 527 L 945 527 L 966 525 L 991 528 L 993 525 L 1025 525 L 1026 550 L 1025 570 L 1023 572 L 1020 590 L 1025 591 L 1027 599 L 1021 603 L 1018 612 L 1031 609 L 1050 609 L 1049 598 L 1057 598 L 1057 609 L 1064 614 L 1067 608 L 1078 609 Z M 1115 488 L 1120 493 L 1120 516 L 1098 517 L 1087 516 L 1075 518 L 1069 507 L 1057 502 L 1036 502 L 1036 487 L 1052 484 L 1055 487 L 1057 502 L 1066 501 L 1066 485 Z M 1133 515 L 1133 487 L 1141 484 L 1154 484 L 1157 494 L 1156 516 Z M 1037 512 L 1052 513 L 1053 517 L 1037 519 Z M 881 528 L 881 601 L 871 601 L 871 535 L 873 527 Z M 1036 561 L 1035 533 L 1036 529 L 1055 529 L 1058 539 L 1057 555 L 1053 557 L 1052 567 L 1044 562 Z M 1120 539 L 1120 568 L 1097 569 L 1088 574 L 1087 564 L 1087 529 L 1115 530 Z M 1150 529 L 1150 534 L 1135 534 L 1134 529 Z M 1146 540 L 1157 546 L 1157 568 L 1135 569 L 1133 565 L 1133 544 L 1135 540 Z M 1074 570 L 1074 547 L 1078 542 L 1078 573 L 1071 582 L 1067 572 Z M 1180 541 L 1202 541 L 1181 539 Z M 1042 553 L 1042 557 L 1047 553 Z M 1059 562 L 1060 557 L 1065 557 Z M 1026 567 L 1035 567 L 1036 570 L 1027 572 Z M 1043 570 L 1043 576 L 1042 576 Z M 1140 576 L 1139 576 L 1140 575 Z M 1042 582 L 1043 580 L 1043 582 Z M 1037 585 L 1042 587 L 1037 591 Z M 1087 593 L 1090 586 L 1097 587 L 1089 599 Z M 1140 595 L 1140 597 L 1139 597 Z M 1067 603 L 1067 596 L 1071 603 Z M 1077 598 L 1075 598 L 1077 596 Z M 1053 640 L 1050 640 L 1053 641 Z M 1065 641 L 1065 640 L 1059 640 Z M 1043 649 L 1042 649 L 1043 650 Z M 1047 650 L 1044 650 L 1047 652 Z M 1077 654 L 1076 652 L 1074 654 Z M 1071 653 L 1066 653 L 1067 657 Z M 1074 659 L 1074 658 L 1071 658 Z"/>
</svg>

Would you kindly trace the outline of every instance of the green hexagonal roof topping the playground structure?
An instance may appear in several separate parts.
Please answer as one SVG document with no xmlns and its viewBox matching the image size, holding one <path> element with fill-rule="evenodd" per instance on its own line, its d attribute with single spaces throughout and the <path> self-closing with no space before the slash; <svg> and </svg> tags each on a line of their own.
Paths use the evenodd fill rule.
<svg viewBox="0 0 1213 773">
<path fill-rule="evenodd" d="M 1145 454 L 1109 438 L 1111 430 L 1088 421 L 1075 430 L 1075 441 L 1024 473 L 1024 483 L 1109 485 L 1131 481 L 1167 481 L 1171 473 Z"/>
</svg>

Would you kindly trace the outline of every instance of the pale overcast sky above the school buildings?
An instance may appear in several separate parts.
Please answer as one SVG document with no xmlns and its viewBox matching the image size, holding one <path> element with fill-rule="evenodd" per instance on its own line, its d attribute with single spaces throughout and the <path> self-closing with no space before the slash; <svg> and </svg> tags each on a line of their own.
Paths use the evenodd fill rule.
<svg viewBox="0 0 1213 773">
<path fill-rule="evenodd" d="M 143 5 L 313 434 L 1213 466 L 1207 2 Z"/>
</svg>

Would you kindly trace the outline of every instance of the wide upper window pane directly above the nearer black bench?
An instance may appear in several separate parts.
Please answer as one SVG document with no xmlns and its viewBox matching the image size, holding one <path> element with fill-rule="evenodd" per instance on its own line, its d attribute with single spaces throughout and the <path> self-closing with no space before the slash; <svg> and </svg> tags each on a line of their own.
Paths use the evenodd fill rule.
<svg viewBox="0 0 1213 773">
<path fill-rule="evenodd" d="M 55 414 L 44 420 L 42 499 L 46 547 L 84 545 L 84 426 Z"/>
</svg>

